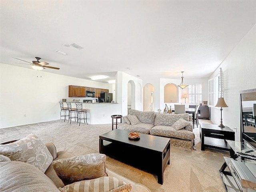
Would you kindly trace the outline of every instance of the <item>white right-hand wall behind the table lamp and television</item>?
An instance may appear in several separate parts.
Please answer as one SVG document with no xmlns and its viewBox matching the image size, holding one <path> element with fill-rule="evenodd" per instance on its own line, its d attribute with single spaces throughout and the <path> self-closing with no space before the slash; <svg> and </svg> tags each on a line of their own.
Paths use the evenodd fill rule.
<svg viewBox="0 0 256 192">
<path fill-rule="evenodd" d="M 223 108 L 223 124 L 237 128 L 236 140 L 240 140 L 239 91 L 256 88 L 256 26 L 242 38 L 228 57 L 210 78 L 216 76 L 221 67 L 224 76 L 224 99 L 228 108 Z M 211 108 L 211 120 L 220 124 L 220 110 Z"/>
</svg>

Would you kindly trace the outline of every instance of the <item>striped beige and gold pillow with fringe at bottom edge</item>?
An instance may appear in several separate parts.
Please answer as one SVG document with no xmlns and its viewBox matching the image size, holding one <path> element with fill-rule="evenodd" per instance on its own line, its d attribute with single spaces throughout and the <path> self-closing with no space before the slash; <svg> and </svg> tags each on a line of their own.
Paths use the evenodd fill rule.
<svg viewBox="0 0 256 192">
<path fill-rule="evenodd" d="M 131 184 L 126 184 L 115 177 L 100 177 L 83 180 L 59 188 L 61 192 L 130 192 Z"/>
</svg>

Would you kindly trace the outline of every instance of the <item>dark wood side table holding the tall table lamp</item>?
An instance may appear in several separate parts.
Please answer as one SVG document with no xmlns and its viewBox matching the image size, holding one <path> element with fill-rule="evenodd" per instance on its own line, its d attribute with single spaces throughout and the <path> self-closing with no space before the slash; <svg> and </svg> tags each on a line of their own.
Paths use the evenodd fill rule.
<svg viewBox="0 0 256 192">
<path fill-rule="evenodd" d="M 235 140 L 235 132 L 228 126 L 200 123 L 201 150 L 205 147 L 226 150 L 230 152 L 230 146 L 225 140 Z"/>
</svg>

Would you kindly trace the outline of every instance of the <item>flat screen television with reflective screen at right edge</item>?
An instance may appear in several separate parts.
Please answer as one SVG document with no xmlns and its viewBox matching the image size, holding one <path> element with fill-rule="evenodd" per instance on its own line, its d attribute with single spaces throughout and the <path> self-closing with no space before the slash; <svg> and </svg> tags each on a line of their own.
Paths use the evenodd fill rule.
<svg viewBox="0 0 256 192">
<path fill-rule="evenodd" d="M 242 90 L 240 94 L 241 142 L 256 149 L 256 88 Z"/>
</svg>

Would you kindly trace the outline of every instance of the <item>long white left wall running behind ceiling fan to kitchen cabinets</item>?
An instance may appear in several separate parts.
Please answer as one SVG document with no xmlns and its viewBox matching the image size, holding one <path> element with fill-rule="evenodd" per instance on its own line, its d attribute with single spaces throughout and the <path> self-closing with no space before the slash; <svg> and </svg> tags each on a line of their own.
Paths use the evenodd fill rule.
<svg viewBox="0 0 256 192">
<path fill-rule="evenodd" d="M 59 101 L 63 98 L 67 101 L 84 99 L 69 98 L 68 85 L 104 88 L 112 92 L 112 84 L 109 83 L 7 64 L 0 64 L 0 74 L 0 128 L 58 120 L 60 118 Z"/>
</svg>

